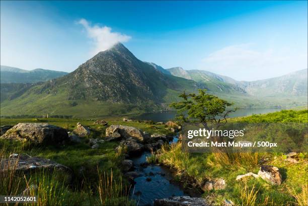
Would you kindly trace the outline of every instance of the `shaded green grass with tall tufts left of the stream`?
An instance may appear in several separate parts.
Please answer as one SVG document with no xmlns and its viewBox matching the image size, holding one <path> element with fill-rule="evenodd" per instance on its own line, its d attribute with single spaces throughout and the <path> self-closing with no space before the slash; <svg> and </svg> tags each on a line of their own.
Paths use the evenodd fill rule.
<svg viewBox="0 0 308 206">
<path fill-rule="evenodd" d="M 149 133 L 168 133 L 165 125 L 153 122 L 124 122 L 120 117 L 104 118 L 111 124 L 134 126 Z M 36 205 L 134 205 L 128 198 L 128 182 L 123 179 L 120 163 L 124 155 L 115 152 L 117 142 L 104 142 L 100 148 L 92 149 L 88 142 L 90 138 L 105 138 L 108 126 L 94 124 L 96 119 L 81 118 L 2 118 L 0 125 L 15 125 L 19 122 L 49 123 L 72 131 L 76 123 L 81 122 L 91 129 L 90 136 L 82 138 L 78 144 L 64 146 L 38 147 L 29 142 L 1 140 L 1 158 L 7 158 L 12 153 L 26 153 L 34 157 L 48 158 L 71 168 L 72 182 L 65 182 L 59 174 L 46 172 L 31 175 L 19 175 L 14 170 L 1 173 L 1 194 L 20 194 L 31 185 L 37 185 L 36 195 L 40 201 Z M 16 165 L 15 165 L 16 166 Z M 12 166 L 10 166 L 12 168 Z M 86 171 L 86 172 L 85 172 Z M 16 178 L 18 177 L 18 178 Z M 32 192 L 32 190 L 31 190 Z M 34 192 L 34 191 L 33 191 Z"/>
</svg>

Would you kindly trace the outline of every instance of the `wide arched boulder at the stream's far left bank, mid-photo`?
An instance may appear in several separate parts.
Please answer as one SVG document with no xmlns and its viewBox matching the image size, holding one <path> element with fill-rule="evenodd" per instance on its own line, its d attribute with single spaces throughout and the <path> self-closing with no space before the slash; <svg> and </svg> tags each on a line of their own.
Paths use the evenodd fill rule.
<svg viewBox="0 0 308 206">
<path fill-rule="evenodd" d="M 121 138 L 134 138 L 140 142 L 143 141 L 143 132 L 132 126 L 111 125 L 106 129 L 106 137 L 112 136 L 115 132 L 121 135 Z"/>
</svg>

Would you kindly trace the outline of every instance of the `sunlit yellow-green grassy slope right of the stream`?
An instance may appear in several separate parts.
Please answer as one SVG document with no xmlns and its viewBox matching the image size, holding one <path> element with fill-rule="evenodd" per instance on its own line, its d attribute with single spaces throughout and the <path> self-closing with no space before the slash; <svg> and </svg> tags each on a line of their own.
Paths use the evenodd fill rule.
<svg viewBox="0 0 308 206">
<path fill-rule="evenodd" d="M 244 122 L 308 122 L 307 114 L 307 110 L 284 110 L 230 120 Z M 281 185 L 270 185 L 261 178 L 247 178 L 243 181 L 235 181 L 237 175 L 248 172 L 258 173 L 259 161 L 265 158 L 268 158 L 266 164 L 279 168 L 284 180 Z M 163 150 L 159 156 L 159 161 L 175 168 L 177 171 L 185 171 L 185 177 L 182 172 L 178 173 L 178 179 L 184 181 L 184 184 L 189 178 L 193 178 L 197 182 L 202 182 L 205 178 L 224 178 L 227 184 L 226 189 L 203 194 L 204 197 L 210 195 L 218 205 L 224 199 L 231 199 L 240 205 L 293 205 L 296 202 L 292 197 L 294 193 L 307 194 L 307 187 L 303 187 L 306 186 L 308 181 L 307 153 L 301 154 L 299 164 L 292 164 L 286 162 L 285 156 L 281 154 L 240 154 L 227 157 L 218 153 L 182 153 L 181 144 L 178 144 Z M 186 182 L 188 186 L 190 186 L 189 182 Z M 255 185 L 256 201 L 249 203 L 249 200 L 246 200 L 245 197 L 247 197 L 248 192 L 252 191 L 253 185 Z M 247 190 L 243 193 L 246 186 Z M 305 193 L 303 190 L 305 190 Z"/>
</svg>

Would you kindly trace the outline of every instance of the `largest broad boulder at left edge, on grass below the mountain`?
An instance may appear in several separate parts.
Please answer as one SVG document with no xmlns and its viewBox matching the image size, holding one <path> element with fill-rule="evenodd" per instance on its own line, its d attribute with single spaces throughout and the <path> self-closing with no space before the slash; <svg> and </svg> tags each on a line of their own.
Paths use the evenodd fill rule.
<svg viewBox="0 0 308 206">
<path fill-rule="evenodd" d="M 36 144 L 57 145 L 68 142 L 67 131 L 47 123 L 18 123 L 1 136 L 2 139 L 31 141 Z"/>
</svg>

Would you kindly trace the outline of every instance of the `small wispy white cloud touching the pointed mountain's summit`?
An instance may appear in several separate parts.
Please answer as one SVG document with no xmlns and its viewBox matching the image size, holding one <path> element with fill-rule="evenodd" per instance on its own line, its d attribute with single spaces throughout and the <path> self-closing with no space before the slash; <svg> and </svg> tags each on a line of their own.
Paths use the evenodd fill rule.
<svg viewBox="0 0 308 206">
<path fill-rule="evenodd" d="M 93 54 L 96 54 L 100 51 L 105 51 L 118 42 L 127 42 L 131 38 L 125 34 L 112 32 L 111 28 L 107 26 L 91 26 L 91 24 L 85 19 L 81 19 L 78 24 L 81 24 L 85 27 L 89 38 L 93 40 L 95 44 Z"/>
</svg>

